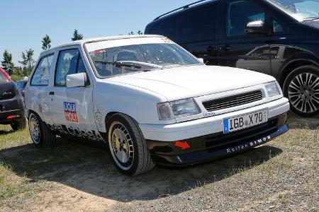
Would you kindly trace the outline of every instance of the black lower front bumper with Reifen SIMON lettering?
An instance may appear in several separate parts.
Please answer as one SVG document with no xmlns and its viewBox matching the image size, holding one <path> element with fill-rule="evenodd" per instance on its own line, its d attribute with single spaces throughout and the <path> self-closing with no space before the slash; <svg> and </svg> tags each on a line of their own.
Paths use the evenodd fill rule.
<svg viewBox="0 0 319 212">
<path fill-rule="evenodd" d="M 230 134 L 210 134 L 179 143 L 187 142 L 187 148 L 181 148 L 176 142 L 147 140 L 155 163 L 164 165 L 191 165 L 206 160 L 221 158 L 239 153 L 271 141 L 289 130 L 286 124 L 287 114 L 269 119 L 265 124 Z"/>
</svg>

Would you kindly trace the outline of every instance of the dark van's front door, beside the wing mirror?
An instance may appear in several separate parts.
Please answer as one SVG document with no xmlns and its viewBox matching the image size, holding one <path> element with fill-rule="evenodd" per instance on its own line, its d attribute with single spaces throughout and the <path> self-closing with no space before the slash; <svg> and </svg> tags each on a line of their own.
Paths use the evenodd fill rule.
<svg viewBox="0 0 319 212">
<path fill-rule="evenodd" d="M 218 64 L 262 73 L 272 73 L 269 35 L 247 35 L 247 23 L 262 20 L 269 25 L 267 11 L 250 0 L 228 0 L 220 5 L 220 40 Z"/>
</svg>

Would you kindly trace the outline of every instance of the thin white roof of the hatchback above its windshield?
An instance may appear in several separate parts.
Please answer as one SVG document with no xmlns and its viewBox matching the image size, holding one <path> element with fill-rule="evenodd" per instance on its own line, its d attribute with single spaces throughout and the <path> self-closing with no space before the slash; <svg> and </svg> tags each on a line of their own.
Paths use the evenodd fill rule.
<svg viewBox="0 0 319 212">
<path fill-rule="evenodd" d="M 88 42 L 96 42 L 96 41 L 102 41 L 102 40 L 121 40 L 121 39 L 129 39 L 129 38 L 142 38 L 142 37 L 164 37 L 162 35 L 118 35 L 118 36 L 108 36 L 108 37 L 93 37 L 93 38 L 87 38 L 83 40 L 76 40 L 72 42 L 67 42 L 63 45 L 58 45 L 56 47 L 52 47 L 50 49 L 47 49 L 43 52 L 41 52 L 41 55 L 47 54 L 48 52 L 52 52 L 52 50 L 59 49 L 62 47 L 68 47 L 72 45 L 84 45 Z"/>
</svg>

